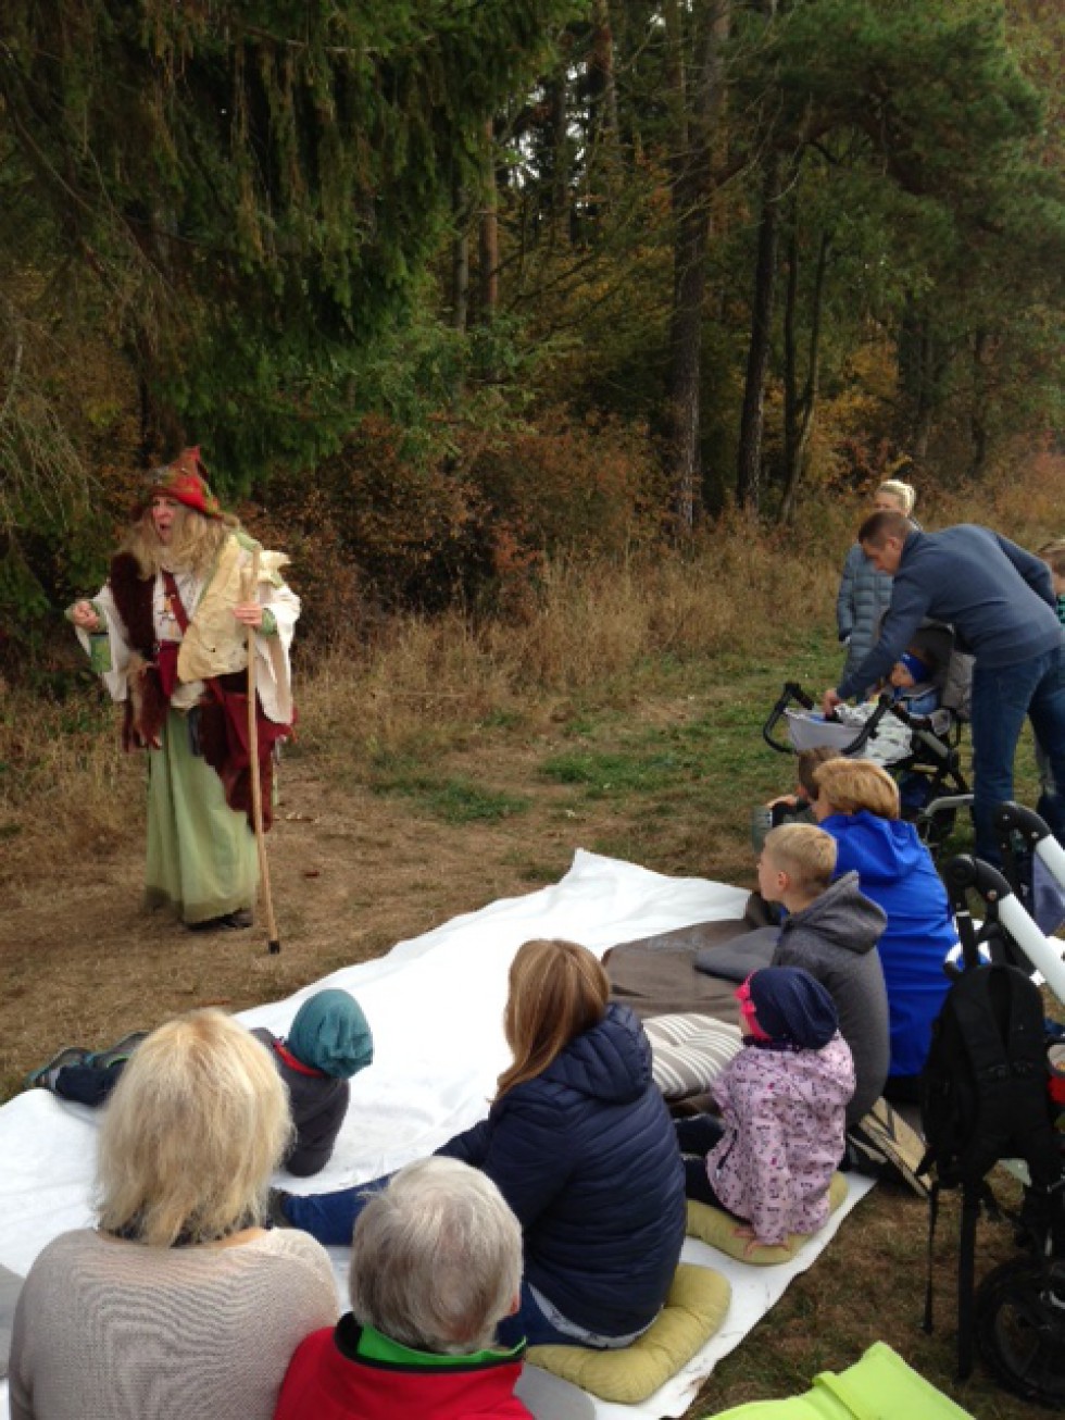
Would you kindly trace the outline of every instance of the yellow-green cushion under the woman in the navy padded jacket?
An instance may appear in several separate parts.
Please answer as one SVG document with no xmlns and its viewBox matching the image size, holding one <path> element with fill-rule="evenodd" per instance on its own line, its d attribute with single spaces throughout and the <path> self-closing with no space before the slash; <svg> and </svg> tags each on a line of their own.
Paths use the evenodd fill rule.
<svg viewBox="0 0 1065 1420">
<path fill-rule="evenodd" d="M 635 1406 L 676 1376 L 720 1329 L 730 1298 L 731 1288 L 720 1272 L 682 1262 L 666 1305 L 630 1346 L 530 1346 L 527 1360 L 601 1400 Z"/>
</svg>

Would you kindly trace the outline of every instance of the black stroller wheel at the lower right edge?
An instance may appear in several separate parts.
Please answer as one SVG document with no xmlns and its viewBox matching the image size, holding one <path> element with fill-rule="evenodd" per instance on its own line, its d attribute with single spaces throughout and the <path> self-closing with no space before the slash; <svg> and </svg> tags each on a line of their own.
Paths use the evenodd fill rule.
<svg viewBox="0 0 1065 1420">
<path fill-rule="evenodd" d="M 988 1272 L 976 1294 L 977 1346 L 1015 1396 L 1065 1409 L 1065 1261 L 1024 1255 Z"/>
</svg>

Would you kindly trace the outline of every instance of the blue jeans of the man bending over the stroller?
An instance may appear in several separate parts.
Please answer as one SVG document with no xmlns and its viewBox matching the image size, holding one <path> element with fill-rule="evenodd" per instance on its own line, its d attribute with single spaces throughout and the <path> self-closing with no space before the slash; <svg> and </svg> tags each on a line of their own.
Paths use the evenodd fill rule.
<svg viewBox="0 0 1065 1420">
<path fill-rule="evenodd" d="M 973 672 L 973 822 L 976 853 L 1001 865 L 994 811 L 1014 797 L 1014 755 L 1027 716 L 1047 751 L 1055 792 L 1044 791 L 1038 812 L 1065 843 L 1065 646 L 1018 666 Z"/>
</svg>

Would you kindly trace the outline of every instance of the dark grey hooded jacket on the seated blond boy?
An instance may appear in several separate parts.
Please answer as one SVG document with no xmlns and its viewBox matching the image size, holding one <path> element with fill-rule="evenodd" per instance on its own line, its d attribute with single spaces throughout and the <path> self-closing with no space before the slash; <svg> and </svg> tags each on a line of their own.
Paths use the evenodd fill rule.
<svg viewBox="0 0 1065 1420">
<path fill-rule="evenodd" d="M 858 873 L 843 873 L 808 907 L 784 919 L 772 954 L 774 967 L 802 967 L 835 1001 L 858 1079 L 846 1106 L 848 1125 L 869 1112 L 888 1079 L 888 991 L 876 953 L 886 922 L 882 909 L 858 890 Z"/>
</svg>

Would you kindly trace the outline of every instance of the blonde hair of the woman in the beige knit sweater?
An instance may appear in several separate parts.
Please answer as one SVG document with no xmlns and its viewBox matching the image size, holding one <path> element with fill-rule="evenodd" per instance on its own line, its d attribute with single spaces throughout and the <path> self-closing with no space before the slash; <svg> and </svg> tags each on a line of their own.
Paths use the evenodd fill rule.
<svg viewBox="0 0 1065 1420">
<path fill-rule="evenodd" d="M 284 1083 L 250 1031 L 214 1010 L 168 1021 L 104 1113 L 99 1227 L 172 1247 L 258 1223 L 291 1135 Z"/>
</svg>

